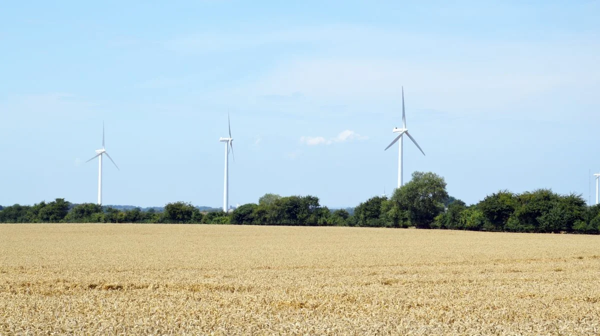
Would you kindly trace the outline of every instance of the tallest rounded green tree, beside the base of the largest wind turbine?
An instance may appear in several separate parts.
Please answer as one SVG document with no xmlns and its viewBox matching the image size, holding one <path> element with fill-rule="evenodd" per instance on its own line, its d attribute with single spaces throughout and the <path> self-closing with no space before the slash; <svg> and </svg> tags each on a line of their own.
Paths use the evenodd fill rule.
<svg viewBox="0 0 600 336">
<path fill-rule="evenodd" d="M 414 172 L 410 182 L 394 191 L 391 200 L 400 211 L 409 212 L 410 223 L 428 228 L 444 211 L 443 201 L 447 198 L 444 178 L 431 172 Z"/>
</svg>

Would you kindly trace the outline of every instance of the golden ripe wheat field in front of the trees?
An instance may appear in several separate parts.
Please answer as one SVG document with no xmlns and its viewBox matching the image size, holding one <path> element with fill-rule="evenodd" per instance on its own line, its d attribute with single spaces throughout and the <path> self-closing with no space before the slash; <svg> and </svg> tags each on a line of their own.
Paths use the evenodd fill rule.
<svg viewBox="0 0 600 336">
<path fill-rule="evenodd" d="M 0 334 L 600 334 L 600 237 L 0 224 Z"/>
</svg>

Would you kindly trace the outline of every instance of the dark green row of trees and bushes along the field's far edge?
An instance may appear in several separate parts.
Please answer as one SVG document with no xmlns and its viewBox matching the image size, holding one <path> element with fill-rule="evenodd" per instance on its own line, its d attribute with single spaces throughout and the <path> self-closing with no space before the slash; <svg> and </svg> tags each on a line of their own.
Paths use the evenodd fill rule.
<svg viewBox="0 0 600 336">
<path fill-rule="evenodd" d="M 415 172 L 391 197 L 376 196 L 353 212 L 330 210 L 315 196 L 265 194 L 258 203 L 232 212 L 205 212 L 191 203 L 175 202 L 163 211 L 115 209 L 64 199 L 32 206 L 0 208 L 0 223 L 188 223 L 287 226 L 416 227 L 419 229 L 493 232 L 600 233 L 600 206 L 587 206 L 581 195 L 548 189 L 521 194 L 501 190 L 467 206 L 448 195 L 445 180 L 431 172 Z"/>
</svg>

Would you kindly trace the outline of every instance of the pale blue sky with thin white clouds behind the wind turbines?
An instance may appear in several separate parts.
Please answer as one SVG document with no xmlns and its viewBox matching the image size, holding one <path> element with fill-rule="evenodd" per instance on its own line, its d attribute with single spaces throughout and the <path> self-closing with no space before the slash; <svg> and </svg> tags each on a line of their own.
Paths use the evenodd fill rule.
<svg viewBox="0 0 600 336">
<path fill-rule="evenodd" d="M 0 11 L 0 204 L 220 206 L 391 191 L 404 179 L 587 200 L 600 170 L 599 1 L 10 2 Z M 592 185 L 592 187 L 594 187 Z M 594 190 L 592 190 L 593 194 Z"/>
</svg>

